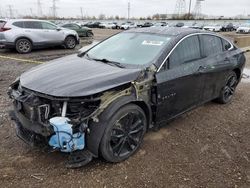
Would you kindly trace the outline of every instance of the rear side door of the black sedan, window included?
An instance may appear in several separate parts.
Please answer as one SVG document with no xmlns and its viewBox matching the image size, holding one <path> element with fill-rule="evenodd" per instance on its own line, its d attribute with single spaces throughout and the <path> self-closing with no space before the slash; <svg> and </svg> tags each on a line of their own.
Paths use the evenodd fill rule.
<svg viewBox="0 0 250 188">
<path fill-rule="evenodd" d="M 204 93 L 202 101 L 207 102 L 218 97 L 235 57 L 228 53 L 232 47 L 224 39 L 215 35 L 200 35 L 201 52 L 204 57 L 202 77 L 204 77 Z"/>
</svg>

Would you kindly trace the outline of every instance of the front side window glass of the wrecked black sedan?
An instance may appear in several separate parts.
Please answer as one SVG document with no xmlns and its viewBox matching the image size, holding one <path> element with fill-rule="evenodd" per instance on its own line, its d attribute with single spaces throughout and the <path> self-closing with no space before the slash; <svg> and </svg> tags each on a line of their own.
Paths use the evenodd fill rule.
<svg viewBox="0 0 250 188">
<path fill-rule="evenodd" d="M 170 55 L 169 68 L 180 66 L 201 58 L 200 42 L 198 36 L 191 36 L 184 39 Z"/>
</svg>

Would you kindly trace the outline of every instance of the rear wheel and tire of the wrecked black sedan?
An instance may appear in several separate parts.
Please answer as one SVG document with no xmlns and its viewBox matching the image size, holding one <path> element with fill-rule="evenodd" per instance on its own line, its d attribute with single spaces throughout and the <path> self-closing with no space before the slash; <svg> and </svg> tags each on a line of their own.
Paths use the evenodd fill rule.
<svg viewBox="0 0 250 188">
<path fill-rule="evenodd" d="M 227 79 L 226 79 L 226 85 L 222 88 L 220 96 L 218 99 L 216 99 L 216 102 L 220 104 L 227 104 L 232 101 L 232 98 L 235 93 L 235 89 L 238 85 L 238 78 L 235 72 L 231 72 Z"/>
</svg>

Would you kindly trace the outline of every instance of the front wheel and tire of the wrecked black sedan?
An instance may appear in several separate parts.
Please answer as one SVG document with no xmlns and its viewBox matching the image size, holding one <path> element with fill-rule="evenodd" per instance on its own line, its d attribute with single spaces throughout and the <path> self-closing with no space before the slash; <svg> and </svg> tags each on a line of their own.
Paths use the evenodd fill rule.
<svg viewBox="0 0 250 188">
<path fill-rule="evenodd" d="M 140 148 L 146 129 L 146 115 L 139 106 L 120 108 L 107 122 L 100 144 L 102 157 L 112 163 L 128 159 Z"/>
</svg>

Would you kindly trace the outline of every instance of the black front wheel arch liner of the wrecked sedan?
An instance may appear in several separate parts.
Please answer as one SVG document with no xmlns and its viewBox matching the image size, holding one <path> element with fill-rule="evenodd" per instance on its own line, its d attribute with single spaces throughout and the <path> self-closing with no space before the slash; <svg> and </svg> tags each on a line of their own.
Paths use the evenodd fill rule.
<svg viewBox="0 0 250 188">
<path fill-rule="evenodd" d="M 99 146 L 104 131 L 106 130 L 108 120 L 111 118 L 114 112 L 118 111 L 120 108 L 128 104 L 135 104 L 144 111 L 147 117 L 147 128 L 149 128 L 149 125 L 152 121 L 152 111 L 150 109 L 150 106 L 145 101 L 137 100 L 133 95 L 120 97 L 116 101 L 112 102 L 104 110 L 104 112 L 100 114 L 99 119 L 101 119 L 101 122 L 92 122 L 89 125 L 90 134 L 87 135 L 86 142 L 88 150 L 92 152 L 94 156 L 97 157 L 99 155 Z"/>
</svg>

